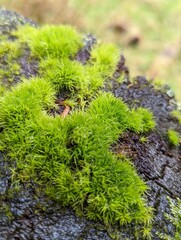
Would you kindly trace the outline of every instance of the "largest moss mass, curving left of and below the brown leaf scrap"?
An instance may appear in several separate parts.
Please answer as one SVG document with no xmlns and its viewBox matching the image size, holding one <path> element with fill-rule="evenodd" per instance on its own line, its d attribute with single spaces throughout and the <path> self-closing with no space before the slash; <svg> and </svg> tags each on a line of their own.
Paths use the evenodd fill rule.
<svg viewBox="0 0 181 240">
<path fill-rule="evenodd" d="M 17 160 L 20 179 L 38 178 L 48 195 L 85 210 L 90 219 L 148 224 L 151 209 L 142 199 L 146 185 L 128 161 L 109 151 L 129 126 L 129 109 L 103 93 L 86 112 L 53 118 L 42 112 L 52 100 L 49 87 L 34 79 L 6 93 L 1 102 L 2 146 Z"/>
</svg>

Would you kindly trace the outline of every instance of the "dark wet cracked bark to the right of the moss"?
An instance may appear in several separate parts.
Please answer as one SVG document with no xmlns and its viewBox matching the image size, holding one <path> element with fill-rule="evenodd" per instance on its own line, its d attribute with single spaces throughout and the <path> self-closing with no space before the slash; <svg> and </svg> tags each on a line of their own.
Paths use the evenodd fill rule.
<svg viewBox="0 0 181 240">
<path fill-rule="evenodd" d="M 170 128 L 181 133 L 181 125 L 171 115 L 177 109 L 177 104 L 174 96 L 170 96 L 170 91 L 167 86 L 156 90 L 153 82 L 144 77 L 137 77 L 134 83 L 126 81 L 113 90 L 115 96 L 123 99 L 131 108 L 148 108 L 154 114 L 156 129 L 144 136 L 144 143 L 142 136 L 127 132 L 118 140 L 114 151 L 131 158 L 138 173 L 150 187 L 148 202 L 156 210 L 153 232 L 161 232 L 166 227 L 172 234 L 174 227 L 164 214 L 170 211 L 167 196 L 173 200 L 181 198 L 181 147 L 170 146 L 166 133 Z M 154 235 L 153 239 L 157 238 Z"/>
</svg>

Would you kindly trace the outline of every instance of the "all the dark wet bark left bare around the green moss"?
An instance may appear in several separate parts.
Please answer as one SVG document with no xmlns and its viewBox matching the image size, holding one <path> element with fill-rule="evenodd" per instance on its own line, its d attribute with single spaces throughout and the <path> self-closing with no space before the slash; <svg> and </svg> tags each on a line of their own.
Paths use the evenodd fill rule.
<svg viewBox="0 0 181 240">
<path fill-rule="evenodd" d="M 17 13 L 0 9 L 0 35 L 13 41 L 11 31 L 20 25 L 36 24 Z M 76 59 L 83 64 L 90 57 L 90 50 L 96 40 L 88 35 L 85 46 L 77 53 Z M 87 45 L 86 45 L 87 44 Z M 20 73 L 14 76 L 14 83 L 22 77 L 29 78 L 38 72 L 38 61 L 29 58 L 29 50 L 24 48 L 24 56 L 19 59 Z M 0 66 L 6 68 L 5 56 L 0 56 Z M 137 77 L 134 82 L 129 81 L 125 60 L 121 57 L 115 76 L 121 72 L 126 75 L 125 81 L 116 83 L 110 80 L 112 88 L 106 87 L 117 98 L 121 98 L 130 107 L 145 107 L 154 113 L 157 127 L 154 131 L 144 135 L 146 141 L 141 141 L 140 134 L 126 132 L 112 146 L 116 153 L 124 154 L 132 159 L 138 173 L 149 185 L 147 198 L 150 206 L 155 208 L 153 223 L 153 239 L 160 239 L 156 232 L 163 232 L 166 228 L 170 235 L 174 233 L 174 226 L 168 222 L 164 213 L 170 212 L 167 196 L 175 200 L 181 198 L 181 147 L 170 146 L 167 131 L 172 128 L 181 134 L 179 121 L 171 114 L 177 109 L 174 96 L 170 89 L 155 89 L 153 82 L 144 77 Z M 6 83 L 6 79 L 3 79 Z M 46 199 L 37 192 L 32 183 L 12 186 L 11 166 L 5 156 L 0 155 L 0 239 L 111 239 L 106 227 L 101 223 L 92 222 L 77 217 L 71 209 L 62 208 L 59 204 Z M 14 191 L 17 190 L 15 193 Z M 135 239 L 132 235 L 134 226 L 120 229 L 119 239 Z M 117 230 L 116 230 L 117 231 Z M 114 229 L 112 229 L 114 233 Z"/>
</svg>

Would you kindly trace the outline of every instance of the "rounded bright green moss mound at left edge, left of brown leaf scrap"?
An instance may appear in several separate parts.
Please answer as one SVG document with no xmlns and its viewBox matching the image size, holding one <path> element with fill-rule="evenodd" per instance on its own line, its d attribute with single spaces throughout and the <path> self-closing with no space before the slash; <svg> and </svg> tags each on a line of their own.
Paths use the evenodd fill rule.
<svg viewBox="0 0 181 240">
<path fill-rule="evenodd" d="M 39 117 L 43 108 L 53 106 L 54 93 L 43 79 L 25 80 L 0 99 L 0 126 L 16 128 L 28 119 Z"/>
</svg>

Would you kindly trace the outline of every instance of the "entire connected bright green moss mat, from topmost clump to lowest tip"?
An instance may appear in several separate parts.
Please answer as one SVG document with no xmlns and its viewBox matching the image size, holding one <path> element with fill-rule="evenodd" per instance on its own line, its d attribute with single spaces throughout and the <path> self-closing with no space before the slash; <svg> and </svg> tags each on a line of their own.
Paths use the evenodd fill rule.
<svg viewBox="0 0 181 240">
<path fill-rule="evenodd" d="M 14 176 L 34 179 L 49 197 L 89 219 L 135 223 L 148 236 L 147 186 L 110 146 L 124 131 L 148 132 L 155 122 L 148 110 L 130 110 L 102 90 L 119 60 L 117 48 L 98 45 L 82 65 L 74 60 L 81 37 L 71 27 L 24 27 L 14 34 L 40 60 L 39 77 L 24 79 L 0 99 L 0 145 L 17 162 Z M 71 114 L 50 115 L 64 92 L 64 104 L 74 107 Z"/>
</svg>

